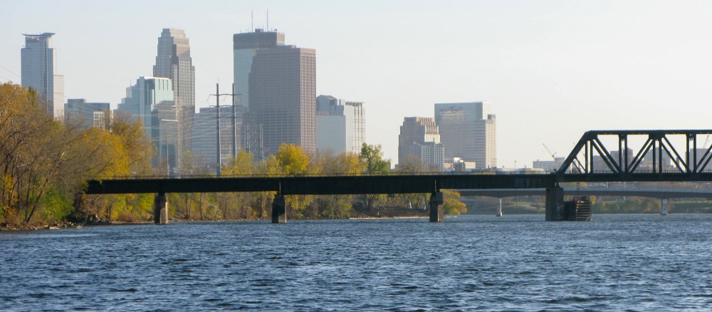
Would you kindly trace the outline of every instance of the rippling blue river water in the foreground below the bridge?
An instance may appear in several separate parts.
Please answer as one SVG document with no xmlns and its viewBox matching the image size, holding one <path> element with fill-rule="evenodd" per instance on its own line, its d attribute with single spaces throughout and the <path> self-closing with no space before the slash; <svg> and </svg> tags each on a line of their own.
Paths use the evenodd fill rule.
<svg viewBox="0 0 712 312">
<path fill-rule="evenodd" d="M 0 233 L 0 310 L 712 308 L 712 215 L 182 223 Z"/>
</svg>

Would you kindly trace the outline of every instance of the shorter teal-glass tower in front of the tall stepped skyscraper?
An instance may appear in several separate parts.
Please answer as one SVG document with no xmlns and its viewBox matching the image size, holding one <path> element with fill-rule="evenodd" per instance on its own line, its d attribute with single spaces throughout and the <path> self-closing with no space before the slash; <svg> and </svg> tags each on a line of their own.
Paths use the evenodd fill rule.
<svg viewBox="0 0 712 312">
<path fill-rule="evenodd" d="M 179 165 L 179 120 L 169 78 L 138 78 L 136 85 L 126 88 L 126 98 L 121 100 L 118 110 L 129 112 L 132 120 L 141 119 L 158 152 L 153 167 L 162 163 L 169 168 Z"/>
</svg>

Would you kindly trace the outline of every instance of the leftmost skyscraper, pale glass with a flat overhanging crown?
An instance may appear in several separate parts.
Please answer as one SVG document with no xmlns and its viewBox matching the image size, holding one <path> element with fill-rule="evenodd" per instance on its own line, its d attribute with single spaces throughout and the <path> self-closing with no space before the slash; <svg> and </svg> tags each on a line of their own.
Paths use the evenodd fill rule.
<svg viewBox="0 0 712 312">
<path fill-rule="evenodd" d="M 22 85 L 33 88 L 46 100 L 47 113 L 64 118 L 64 76 L 57 75 L 57 51 L 52 48 L 54 33 L 25 34 L 21 50 Z"/>
</svg>

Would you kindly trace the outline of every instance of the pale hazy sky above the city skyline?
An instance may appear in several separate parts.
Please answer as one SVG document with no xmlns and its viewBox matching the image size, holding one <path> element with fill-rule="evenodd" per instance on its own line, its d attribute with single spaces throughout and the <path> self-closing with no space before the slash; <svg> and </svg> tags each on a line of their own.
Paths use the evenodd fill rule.
<svg viewBox="0 0 712 312">
<path fill-rule="evenodd" d="M 0 0 L 0 82 L 21 33 L 53 32 L 66 98 L 110 102 L 151 76 L 162 28 L 190 39 L 196 104 L 232 83 L 232 34 L 315 48 L 317 95 L 366 102 L 367 142 L 397 161 L 407 116 L 487 100 L 498 165 L 565 156 L 586 130 L 712 128 L 712 1 Z M 684 149 L 683 149 L 684 150 Z"/>
</svg>

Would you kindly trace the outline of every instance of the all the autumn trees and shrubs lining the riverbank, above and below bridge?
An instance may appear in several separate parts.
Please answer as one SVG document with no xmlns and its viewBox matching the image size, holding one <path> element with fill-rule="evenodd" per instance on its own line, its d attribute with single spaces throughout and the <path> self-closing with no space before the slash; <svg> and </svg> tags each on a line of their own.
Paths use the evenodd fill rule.
<svg viewBox="0 0 712 312">
<path fill-rule="evenodd" d="M 140 119 L 115 113 L 93 128 L 84 120 L 58 120 L 48 115 L 41 95 L 14 83 L 0 84 L 0 229 L 36 229 L 63 224 L 140 224 L 153 219 L 155 194 L 86 195 L 88 180 L 115 177 L 161 177 L 165 160 L 158 160 L 155 144 Z M 360 152 L 320 152 L 312 155 L 293 144 L 282 144 L 274 155 L 257 161 L 240 150 L 221 168 L 221 176 L 298 175 L 409 175 L 437 172 L 412 155 L 390 169 L 380 145 L 364 143 Z M 214 177 L 200 155 L 182 155 L 181 170 L 193 177 Z M 691 184 L 666 184 L 671 188 Z M 703 187 L 710 187 L 705 184 Z M 695 185 L 697 187 L 698 185 Z M 444 212 L 466 214 L 460 194 L 444 192 Z M 169 193 L 171 219 L 197 221 L 270 219 L 274 192 Z M 427 216 L 430 194 L 287 195 L 288 219 L 349 219 L 351 217 Z M 517 199 L 521 201 L 522 198 Z M 542 199 L 528 199 L 529 207 L 511 211 L 543 213 Z M 496 199 L 479 197 L 471 213 L 486 212 Z M 514 199 L 503 199 L 508 205 Z M 489 201 L 489 202 L 488 202 Z M 668 210 L 710 212 L 694 203 L 670 201 Z M 407 209 L 412 207 L 414 209 Z M 420 208 L 420 209 L 419 209 Z M 594 204 L 593 213 L 659 212 L 657 199 L 613 200 Z M 416 212 L 418 214 L 416 214 Z"/>
</svg>

